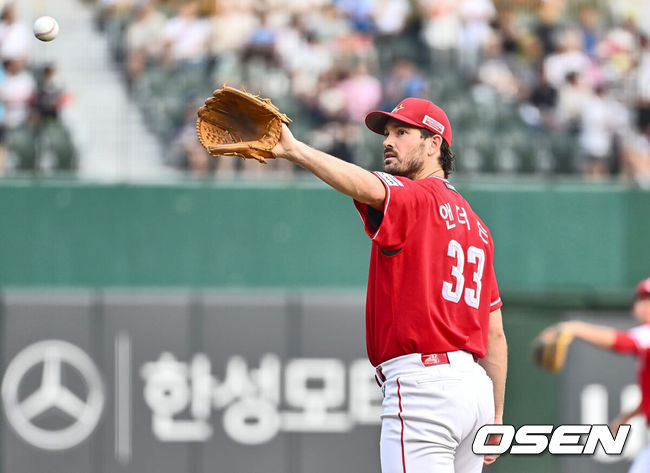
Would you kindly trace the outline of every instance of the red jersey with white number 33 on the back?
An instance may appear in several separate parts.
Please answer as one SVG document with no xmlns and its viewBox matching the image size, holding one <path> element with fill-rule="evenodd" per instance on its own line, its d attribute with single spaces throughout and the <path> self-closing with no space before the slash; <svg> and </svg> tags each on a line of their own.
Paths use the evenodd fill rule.
<svg viewBox="0 0 650 473">
<path fill-rule="evenodd" d="M 487 226 L 446 179 L 374 173 L 383 212 L 355 201 L 372 239 L 366 344 L 377 366 L 409 353 L 487 353 L 501 307 Z"/>
</svg>

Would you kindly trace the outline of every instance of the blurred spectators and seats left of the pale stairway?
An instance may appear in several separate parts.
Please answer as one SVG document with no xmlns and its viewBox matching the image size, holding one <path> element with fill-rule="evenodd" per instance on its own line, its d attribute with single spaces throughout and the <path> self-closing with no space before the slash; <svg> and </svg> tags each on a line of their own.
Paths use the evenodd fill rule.
<svg viewBox="0 0 650 473">
<path fill-rule="evenodd" d="M 76 167 L 76 150 L 59 112 L 69 95 L 55 64 L 33 60 L 34 36 L 15 5 L 0 12 L 0 176 Z"/>
</svg>

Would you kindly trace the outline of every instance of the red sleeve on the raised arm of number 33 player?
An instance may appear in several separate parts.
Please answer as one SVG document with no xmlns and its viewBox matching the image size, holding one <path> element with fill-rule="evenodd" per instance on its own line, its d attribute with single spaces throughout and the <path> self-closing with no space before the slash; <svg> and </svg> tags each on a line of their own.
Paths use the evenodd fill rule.
<svg viewBox="0 0 650 473">
<path fill-rule="evenodd" d="M 382 248 L 397 249 L 406 241 L 424 195 L 409 179 L 400 179 L 384 172 L 374 172 L 386 189 L 382 211 L 354 201 L 370 239 Z"/>
</svg>

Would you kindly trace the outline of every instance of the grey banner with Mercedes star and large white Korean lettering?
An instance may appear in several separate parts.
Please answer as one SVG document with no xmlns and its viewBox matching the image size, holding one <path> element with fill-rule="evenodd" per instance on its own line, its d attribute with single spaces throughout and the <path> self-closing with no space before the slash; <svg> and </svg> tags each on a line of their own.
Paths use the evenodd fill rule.
<svg viewBox="0 0 650 473">
<path fill-rule="evenodd" d="M 376 472 L 363 296 L 4 297 L 2 471 Z"/>
</svg>

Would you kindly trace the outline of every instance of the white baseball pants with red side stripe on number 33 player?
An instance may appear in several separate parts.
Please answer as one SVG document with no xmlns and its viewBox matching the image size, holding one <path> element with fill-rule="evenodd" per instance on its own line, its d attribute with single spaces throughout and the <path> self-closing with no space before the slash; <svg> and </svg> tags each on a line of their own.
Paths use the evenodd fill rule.
<svg viewBox="0 0 650 473">
<path fill-rule="evenodd" d="M 494 422 L 492 380 L 464 351 L 424 366 L 421 354 L 380 365 L 382 473 L 480 473 L 478 429 Z M 382 376 L 383 375 L 383 376 Z"/>
</svg>

